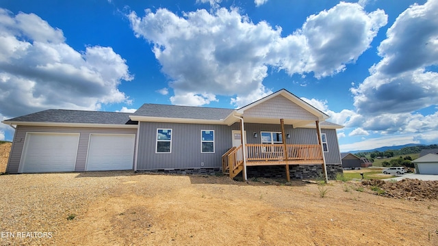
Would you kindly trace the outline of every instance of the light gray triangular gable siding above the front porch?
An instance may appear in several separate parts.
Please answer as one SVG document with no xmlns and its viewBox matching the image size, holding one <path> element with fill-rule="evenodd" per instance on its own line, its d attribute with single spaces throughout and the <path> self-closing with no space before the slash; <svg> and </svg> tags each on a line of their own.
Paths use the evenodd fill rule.
<svg viewBox="0 0 438 246">
<path fill-rule="evenodd" d="M 246 117 L 318 120 L 315 115 L 281 95 L 246 110 L 244 118 Z"/>
</svg>

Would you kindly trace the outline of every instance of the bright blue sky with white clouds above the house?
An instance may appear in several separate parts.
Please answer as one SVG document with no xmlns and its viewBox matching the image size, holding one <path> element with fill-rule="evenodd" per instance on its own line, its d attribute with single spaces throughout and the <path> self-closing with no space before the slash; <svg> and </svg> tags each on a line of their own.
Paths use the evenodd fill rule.
<svg viewBox="0 0 438 246">
<path fill-rule="evenodd" d="M 438 1 L 0 0 L 0 120 L 282 88 L 345 126 L 342 151 L 437 143 Z"/>
</svg>

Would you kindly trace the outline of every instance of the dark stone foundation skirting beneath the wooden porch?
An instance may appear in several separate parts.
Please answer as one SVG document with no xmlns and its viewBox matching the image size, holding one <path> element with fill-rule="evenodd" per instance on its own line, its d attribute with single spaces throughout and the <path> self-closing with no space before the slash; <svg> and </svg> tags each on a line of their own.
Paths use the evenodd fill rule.
<svg viewBox="0 0 438 246">
<path fill-rule="evenodd" d="M 285 165 L 247 167 L 248 178 L 286 178 Z M 342 164 L 327 164 L 329 179 L 335 180 L 337 173 L 343 173 Z M 291 179 L 315 179 L 322 177 L 322 165 L 289 165 Z"/>
</svg>

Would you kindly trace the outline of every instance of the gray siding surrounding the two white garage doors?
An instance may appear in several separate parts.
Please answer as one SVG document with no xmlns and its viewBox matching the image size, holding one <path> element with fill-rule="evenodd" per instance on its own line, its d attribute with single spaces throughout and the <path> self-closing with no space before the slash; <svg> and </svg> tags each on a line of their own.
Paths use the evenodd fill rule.
<svg viewBox="0 0 438 246">
<path fill-rule="evenodd" d="M 10 174 L 18 173 L 18 166 L 21 161 L 21 154 L 25 143 L 27 132 L 35 133 L 80 133 L 79 146 L 77 148 L 75 172 L 83 172 L 85 170 L 88 142 L 91 133 L 121 133 L 137 135 L 136 128 L 79 128 L 79 127 L 47 127 L 47 126 L 17 126 L 14 143 L 12 145 L 10 160 L 8 163 L 7 172 Z M 134 149 L 135 150 L 135 149 Z M 136 153 L 134 152 L 134 156 Z"/>
</svg>

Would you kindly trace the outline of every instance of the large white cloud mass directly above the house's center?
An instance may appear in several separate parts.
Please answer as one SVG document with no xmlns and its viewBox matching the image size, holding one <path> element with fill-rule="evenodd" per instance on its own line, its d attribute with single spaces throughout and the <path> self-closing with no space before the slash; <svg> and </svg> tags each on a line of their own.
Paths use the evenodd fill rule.
<svg viewBox="0 0 438 246">
<path fill-rule="evenodd" d="M 270 92 L 263 85 L 269 66 L 291 75 L 313 72 L 317 78 L 341 72 L 387 23 L 383 10 L 368 13 L 357 3 L 344 2 L 309 16 L 301 29 L 285 37 L 281 27 L 253 23 L 237 8 L 183 16 L 146 10 L 144 16 L 131 12 L 128 18 L 135 35 L 153 44 L 162 72 L 172 79 L 172 103 L 203 105 L 224 95 L 233 96 L 236 107 L 244 106 L 245 98 Z"/>
</svg>

